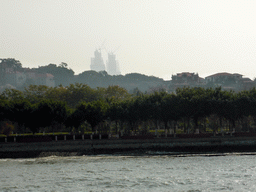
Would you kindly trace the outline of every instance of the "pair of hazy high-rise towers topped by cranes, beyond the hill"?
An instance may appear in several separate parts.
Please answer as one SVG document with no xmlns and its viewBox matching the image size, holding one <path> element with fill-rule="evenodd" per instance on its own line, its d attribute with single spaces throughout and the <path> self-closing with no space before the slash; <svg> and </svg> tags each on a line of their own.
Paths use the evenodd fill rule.
<svg viewBox="0 0 256 192">
<path fill-rule="evenodd" d="M 91 58 L 90 67 L 93 71 L 107 71 L 109 75 L 121 75 L 116 55 L 114 53 L 108 53 L 108 60 L 105 66 L 100 49 L 94 51 L 94 58 Z"/>
</svg>

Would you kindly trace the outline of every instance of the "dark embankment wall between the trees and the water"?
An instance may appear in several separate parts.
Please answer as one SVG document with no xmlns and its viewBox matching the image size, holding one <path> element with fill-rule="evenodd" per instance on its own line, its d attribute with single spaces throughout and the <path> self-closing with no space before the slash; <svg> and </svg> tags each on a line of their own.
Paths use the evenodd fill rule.
<svg viewBox="0 0 256 192">
<path fill-rule="evenodd" d="M 256 137 L 155 138 L 1 143 L 0 158 L 30 158 L 50 155 L 73 156 L 148 151 L 177 153 L 255 152 Z"/>
</svg>

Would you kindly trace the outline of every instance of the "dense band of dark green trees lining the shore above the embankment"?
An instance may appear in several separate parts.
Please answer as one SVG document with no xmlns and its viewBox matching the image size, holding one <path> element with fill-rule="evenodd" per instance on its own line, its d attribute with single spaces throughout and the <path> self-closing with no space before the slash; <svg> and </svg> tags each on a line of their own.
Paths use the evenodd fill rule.
<svg viewBox="0 0 256 192">
<path fill-rule="evenodd" d="M 118 86 L 92 89 L 31 85 L 0 95 L 0 134 L 95 132 L 149 134 L 256 131 L 256 89 L 181 88 L 129 94 Z"/>
</svg>

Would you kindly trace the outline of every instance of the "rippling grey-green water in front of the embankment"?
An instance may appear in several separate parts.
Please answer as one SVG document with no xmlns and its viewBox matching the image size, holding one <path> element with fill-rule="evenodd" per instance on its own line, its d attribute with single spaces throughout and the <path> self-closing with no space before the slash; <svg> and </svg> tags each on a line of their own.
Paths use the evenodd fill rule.
<svg viewBox="0 0 256 192">
<path fill-rule="evenodd" d="M 234 153 L 0 159 L 0 170 L 0 191 L 256 191 L 256 156 Z"/>
</svg>

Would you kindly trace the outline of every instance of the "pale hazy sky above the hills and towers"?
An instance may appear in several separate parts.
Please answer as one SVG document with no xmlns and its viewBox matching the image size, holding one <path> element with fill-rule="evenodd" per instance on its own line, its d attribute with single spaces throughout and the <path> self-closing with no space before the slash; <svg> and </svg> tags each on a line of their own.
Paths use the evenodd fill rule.
<svg viewBox="0 0 256 192">
<path fill-rule="evenodd" d="M 105 41 L 122 74 L 256 77 L 255 0 L 0 0 L 0 58 L 79 74 Z M 104 61 L 107 52 L 102 50 Z"/>
</svg>

